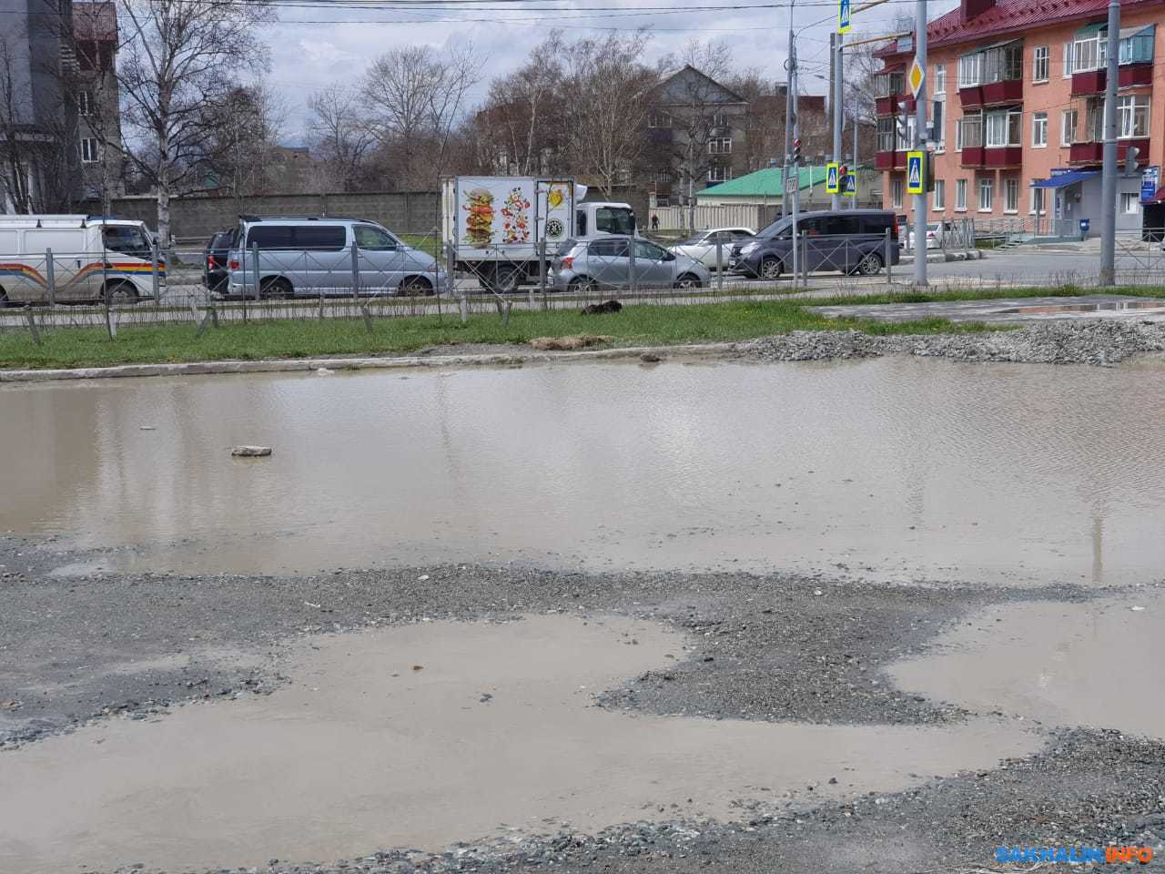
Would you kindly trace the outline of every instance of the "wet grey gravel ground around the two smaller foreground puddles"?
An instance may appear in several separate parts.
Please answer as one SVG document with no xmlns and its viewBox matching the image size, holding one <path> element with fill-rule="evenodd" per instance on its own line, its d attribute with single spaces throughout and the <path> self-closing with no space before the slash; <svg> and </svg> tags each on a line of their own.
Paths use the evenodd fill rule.
<svg viewBox="0 0 1165 874">
<path fill-rule="evenodd" d="M 901 693 L 889 662 L 988 604 L 1088 599 L 1113 590 L 887 585 L 826 573 L 548 572 L 445 565 L 303 578 L 92 575 L 56 577 L 54 556 L 0 540 L 0 755 L 47 734 L 122 713 L 155 718 L 186 702 L 277 688 L 267 656 L 298 635 L 423 619 L 525 612 L 623 613 L 673 623 L 689 643 L 672 664 L 607 690 L 609 709 L 707 718 L 942 724 L 959 707 Z M 224 655 L 227 654 L 227 655 Z M 175 656 L 184 661 L 171 663 Z M 1039 755 L 915 790 L 814 803 L 813 791 L 741 806 L 729 823 L 659 806 L 598 834 L 546 823 L 444 853 L 353 847 L 280 874 L 447 872 L 970 872 L 1000 845 L 1160 846 L 1165 745 L 1114 732 L 1044 731 Z M 926 776 L 926 775 L 922 775 Z M 832 774 L 821 774 L 826 784 Z M 466 836 L 471 837 L 471 836 Z M 1158 855 L 1165 855 L 1165 851 Z M 120 872 L 143 871 L 125 867 Z M 226 869 L 223 869 L 226 871 Z M 239 869 L 231 869 L 239 871 Z"/>
</svg>

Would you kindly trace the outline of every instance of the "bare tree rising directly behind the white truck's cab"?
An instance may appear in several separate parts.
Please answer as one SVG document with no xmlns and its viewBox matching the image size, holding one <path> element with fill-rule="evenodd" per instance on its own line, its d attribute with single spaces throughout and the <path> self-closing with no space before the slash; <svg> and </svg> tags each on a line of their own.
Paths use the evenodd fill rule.
<svg viewBox="0 0 1165 874">
<path fill-rule="evenodd" d="M 571 162 L 598 179 L 610 197 L 629 178 L 647 147 L 644 134 L 655 70 L 642 58 L 649 35 L 613 33 L 570 47 L 566 91 L 571 94 Z"/>
</svg>

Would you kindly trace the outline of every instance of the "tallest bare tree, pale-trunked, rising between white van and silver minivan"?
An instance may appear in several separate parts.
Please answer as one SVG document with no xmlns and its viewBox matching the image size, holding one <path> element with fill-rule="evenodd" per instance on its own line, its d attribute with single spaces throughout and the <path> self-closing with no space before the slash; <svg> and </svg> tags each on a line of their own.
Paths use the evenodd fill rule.
<svg viewBox="0 0 1165 874">
<path fill-rule="evenodd" d="M 266 69 L 256 27 L 261 2 L 118 0 L 122 30 L 118 84 L 125 119 L 139 139 L 128 149 L 157 197 L 157 230 L 170 239 L 170 199 L 203 186 L 216 148 L 207 104 L 223 103 L 238 77 Z"/>
</svg>

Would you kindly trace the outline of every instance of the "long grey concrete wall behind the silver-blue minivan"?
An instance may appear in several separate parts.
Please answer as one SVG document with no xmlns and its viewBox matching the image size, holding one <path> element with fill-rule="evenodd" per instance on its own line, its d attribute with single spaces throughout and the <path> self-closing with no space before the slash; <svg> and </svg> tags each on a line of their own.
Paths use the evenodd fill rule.
<svg viewBox="0 0 1165 874">
<path fill-rule="evenodd" d="M 100 203 L 86 203 L 90 213 Z M 183 197 L 170 200 L 170 233 L 182 240 L 209 240 L 211 234 L 234 225 L 242 213 L 252 216 L 343 216 L 377 221 L 402 234 L 428 234 L 439 227 L 435 191 L 360 191 L 334 195 L 266 195 L 233 197 Z M 140 219 L 157 228 L 157 202 L 153 196 L 116 198 L 111 203 L 118 218 Z"/>
</svg>

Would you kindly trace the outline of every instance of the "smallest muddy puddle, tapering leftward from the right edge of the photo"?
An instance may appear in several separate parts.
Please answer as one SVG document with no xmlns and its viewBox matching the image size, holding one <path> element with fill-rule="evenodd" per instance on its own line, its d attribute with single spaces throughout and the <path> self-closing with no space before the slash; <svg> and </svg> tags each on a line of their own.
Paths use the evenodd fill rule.
<svg viewBox="0 0 1165 874">
<path fill-rule="evenodd" d="M 970 710 L 1165 740 L 1165 593 L 1085 604 L 988 607 L 930 654 L 891 669 L 896 685 Z"/>
</svg>

